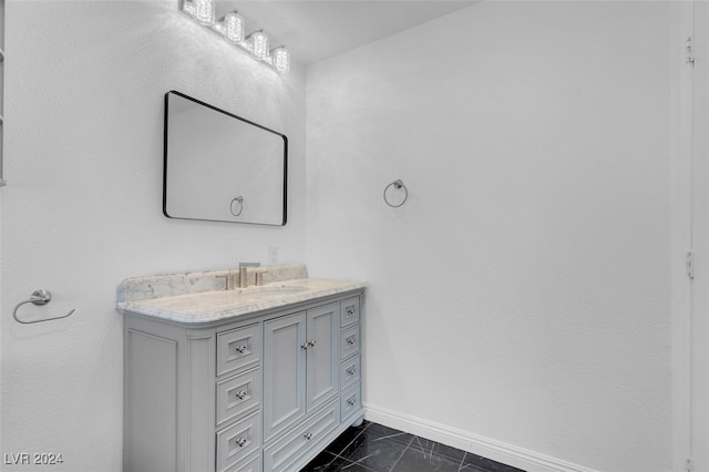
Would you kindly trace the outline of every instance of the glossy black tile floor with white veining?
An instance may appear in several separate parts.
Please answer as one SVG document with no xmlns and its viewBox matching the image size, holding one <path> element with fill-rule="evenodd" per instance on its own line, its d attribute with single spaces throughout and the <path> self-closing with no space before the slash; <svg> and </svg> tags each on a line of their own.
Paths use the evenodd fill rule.
<svg viewBox="0 0 709 472">
<path fill-rule="evenodd" d="M 349 428 L 301 472 L 523 472 L 418 435 L 364 421 Z"/>
</svg>

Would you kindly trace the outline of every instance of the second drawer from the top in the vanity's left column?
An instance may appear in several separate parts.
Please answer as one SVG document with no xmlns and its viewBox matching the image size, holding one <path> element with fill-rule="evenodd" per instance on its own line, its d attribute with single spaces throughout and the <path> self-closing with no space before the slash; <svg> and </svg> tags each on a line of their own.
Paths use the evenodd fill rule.
<svg viewBox="0 0 709 472">
<path fill-rule="evenodd" d="M 261 398 L 261 371 L 249 370 L 217 383 L 217 427 L 257 410 Z"/>
</svg>

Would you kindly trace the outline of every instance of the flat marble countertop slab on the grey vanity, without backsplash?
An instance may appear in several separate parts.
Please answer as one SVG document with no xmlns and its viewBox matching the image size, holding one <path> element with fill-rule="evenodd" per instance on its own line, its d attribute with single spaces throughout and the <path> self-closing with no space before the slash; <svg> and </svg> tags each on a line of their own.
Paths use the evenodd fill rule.
<svg viewBox="0 0 709 472">
<path fill-rule="evenodd" d="M 116 306 L 123 314 L 131 312 L 185 324 L 206 324 L 356 291 L 366 286 L 366 283 L 356 280 L 306 277 L 232 290 L 164 294 L 156 298 L 131 299 L 120 296 Z"/>
</svg>

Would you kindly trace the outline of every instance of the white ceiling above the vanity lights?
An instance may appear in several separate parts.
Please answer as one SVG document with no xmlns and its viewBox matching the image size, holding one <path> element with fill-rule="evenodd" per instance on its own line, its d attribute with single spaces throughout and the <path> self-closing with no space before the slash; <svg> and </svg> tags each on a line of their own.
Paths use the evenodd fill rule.
<svg viewBox="0 0 709 472">
<path fill-rule="evenodd" d="M 312 64 L 480 0 L 216 0 L 216 17 L 238 10 L 247 32 L 263 29 L 271 48 Z"/>
</svg>

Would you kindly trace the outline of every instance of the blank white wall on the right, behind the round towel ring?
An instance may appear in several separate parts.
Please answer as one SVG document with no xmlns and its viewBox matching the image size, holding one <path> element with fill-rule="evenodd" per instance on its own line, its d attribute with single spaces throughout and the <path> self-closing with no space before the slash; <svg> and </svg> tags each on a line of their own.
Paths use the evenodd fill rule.
<svg viewBox="0 0 709 472">
<path fill-rule="evenodd" d="M 372 411 L 670 469 L 669 18 L 483 2 L 308 69 L 307 260 L 371 283 Z"/>
</svg>

